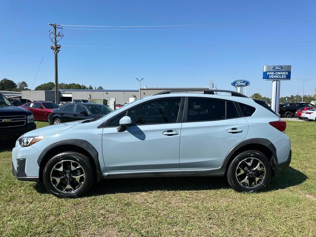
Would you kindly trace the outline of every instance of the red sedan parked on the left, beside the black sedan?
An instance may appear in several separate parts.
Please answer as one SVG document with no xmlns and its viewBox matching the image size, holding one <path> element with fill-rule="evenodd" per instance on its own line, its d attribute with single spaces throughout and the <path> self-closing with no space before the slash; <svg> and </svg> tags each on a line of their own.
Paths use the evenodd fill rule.
<svg viewBox="0 0 316 237">
<path fill-rule="evenodd" d="M 51 113 L 54 109 L 59 108 L 59 105 L 53 102 L 29 102 L 21 105 L 22 108 L 30 110 L 35 120 L 49 121 Z"/>
</svg>

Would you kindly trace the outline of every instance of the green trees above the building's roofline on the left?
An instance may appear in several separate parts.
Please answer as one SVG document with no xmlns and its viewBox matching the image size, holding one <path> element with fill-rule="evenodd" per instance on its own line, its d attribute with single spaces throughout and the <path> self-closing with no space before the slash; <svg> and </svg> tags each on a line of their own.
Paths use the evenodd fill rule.
<svg viewBox="0 0 316 237">
<path fill-rule="evenodd" d="M 85 86 L 83 84 L 78 84 L 78 83 L 58 83 L 58 88 L 59 89 L 78 89 L 78 90 L 103 90 L 102 86 L 99 87 L 92 87 L 92 85 Z M 54 90 L 55 89 L 55 83 L 54 82 L 47 82 L 38 85 L 35 87 L 35 90 Z M 13 80 L 9 79 L 2 79 L 0 80 L 0 90 L 5 90 L 5 91 L 22 91 L 22 90 L 30 90 L 28 88 L 28 84 L 25 81 L 21 81 L 18 83 L 15 83 Z"/>
</svg>

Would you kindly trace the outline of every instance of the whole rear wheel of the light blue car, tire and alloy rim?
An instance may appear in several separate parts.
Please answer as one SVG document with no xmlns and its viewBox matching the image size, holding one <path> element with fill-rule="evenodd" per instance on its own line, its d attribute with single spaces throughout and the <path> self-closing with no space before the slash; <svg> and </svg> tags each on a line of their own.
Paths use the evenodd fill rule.
<svg viewBox="0 0 316 237">
<path fill-rule="evenodd" d="M 237 192 L 252 193 L 267 187 L 271 174 L 269 159 L 259 151 L 250 150 L 233 159 L 227 170 L 227 180 Z"/>
</svg>

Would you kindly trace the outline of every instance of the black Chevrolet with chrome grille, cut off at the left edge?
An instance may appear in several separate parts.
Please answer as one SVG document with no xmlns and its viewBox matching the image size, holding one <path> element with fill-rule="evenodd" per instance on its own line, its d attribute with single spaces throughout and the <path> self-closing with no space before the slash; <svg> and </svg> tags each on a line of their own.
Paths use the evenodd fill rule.
<svg viewBox="0 0 316 237">
<path fill-rule="evenodd" d="M 15 107 L 0 94 L 0 141 L 13 141 L 36 128 L 30 111 Z"/>
</svg>

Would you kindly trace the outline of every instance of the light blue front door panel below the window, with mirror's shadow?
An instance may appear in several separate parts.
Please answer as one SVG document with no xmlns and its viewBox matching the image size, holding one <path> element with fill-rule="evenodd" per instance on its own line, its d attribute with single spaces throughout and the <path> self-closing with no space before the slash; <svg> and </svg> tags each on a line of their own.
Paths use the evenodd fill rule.
<svg viewBox="0 0 316 237">
<path fill-rule="evenodd" d="M 175 134 L 163 135 L 166 131 Z M 107 170 L 179 170 L 180 134 L 181 123 L 131 126 L 124 132 L 106 127 L 102 144 Z"/>
</svg>

